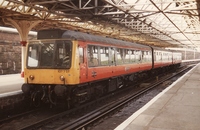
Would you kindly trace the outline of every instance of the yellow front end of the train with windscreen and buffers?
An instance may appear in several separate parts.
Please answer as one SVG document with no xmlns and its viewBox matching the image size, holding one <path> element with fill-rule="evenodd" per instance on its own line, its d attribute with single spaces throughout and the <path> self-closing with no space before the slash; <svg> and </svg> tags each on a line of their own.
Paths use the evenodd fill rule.
<svg viewBox="0 0 200 130">
<path fill-rule="evenodd" d="M 50 39 L 28 44 L 22 91 L 35 104 L 56 104 L 60 97 L 68 99 L 70 86 L 79 82 L 78 57 L 72 43 Z"/>
</svg>

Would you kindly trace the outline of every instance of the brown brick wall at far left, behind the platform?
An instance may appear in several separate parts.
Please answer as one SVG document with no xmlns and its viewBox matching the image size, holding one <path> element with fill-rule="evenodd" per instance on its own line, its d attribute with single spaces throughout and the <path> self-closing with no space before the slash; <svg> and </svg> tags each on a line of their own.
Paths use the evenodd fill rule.
<svg viewBox="0 0 200 130">
<path fill-rule="evenodd" d="M 0 75 L 21 72 L 19 34 L 0 32 Z"/>
</svg>

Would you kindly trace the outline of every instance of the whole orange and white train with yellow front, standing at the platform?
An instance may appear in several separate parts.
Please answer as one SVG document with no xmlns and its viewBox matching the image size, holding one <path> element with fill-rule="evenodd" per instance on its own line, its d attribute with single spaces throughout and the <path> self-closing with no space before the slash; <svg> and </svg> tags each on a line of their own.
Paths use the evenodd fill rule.
<svg viewBox="0 0 200 130">
<path fill-rule="evenodd" d="M 116 91 L 138 75 L 178 67 L 182 54 L 163 48 L 47 29 L 28 42 L 22 91 L 39 102 L 69 106 Z"/>
</svg>

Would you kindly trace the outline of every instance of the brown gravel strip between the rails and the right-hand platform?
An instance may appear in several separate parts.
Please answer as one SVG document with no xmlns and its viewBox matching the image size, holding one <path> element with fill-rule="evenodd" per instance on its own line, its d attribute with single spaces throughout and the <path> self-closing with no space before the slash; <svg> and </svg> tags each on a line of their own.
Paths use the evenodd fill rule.
<svg viewBox="0 0 200 130">
<path fill-rule="evenodd" d="M 148 103 L 152 98 L 154 98 L 157 94 L 159 94 L 162 90 L 164 90 L 167 86 L 169 86 L 171 82 L 165 82 L 159 86 L 157 89 L 153 89 L 152 91 L 146 93 L 135 101 L 132 101 L 123 109 L 115 113 L 114 115 L 107 117 L 104 120 L 99 121 L 98 124 L 88 128 L 88 130 L 113 130 L 118 125 L 120 125 L 124 120 L 130 117 L 137 110 L 142 108 L 146 103 Z"/>
</svg>

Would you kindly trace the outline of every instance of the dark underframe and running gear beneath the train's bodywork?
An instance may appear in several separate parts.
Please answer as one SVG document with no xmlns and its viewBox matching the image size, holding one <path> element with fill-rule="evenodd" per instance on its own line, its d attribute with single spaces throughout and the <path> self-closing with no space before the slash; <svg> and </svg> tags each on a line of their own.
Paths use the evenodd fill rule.
<svg viewBox="0 0 200 130">
<path fill-rule="evenodd" d="M 33 106 L 37 107 L 44 103 L 51 105 L 64 103 L 70 108 L 139 82 L 144 78 L 165 73 L 178 66 L 167 66 L 80 85 L 23 84 L 22 91 L 29 95 Z"/>
</svg>

